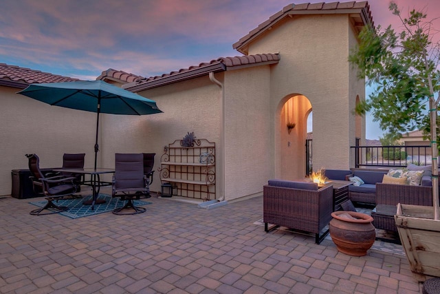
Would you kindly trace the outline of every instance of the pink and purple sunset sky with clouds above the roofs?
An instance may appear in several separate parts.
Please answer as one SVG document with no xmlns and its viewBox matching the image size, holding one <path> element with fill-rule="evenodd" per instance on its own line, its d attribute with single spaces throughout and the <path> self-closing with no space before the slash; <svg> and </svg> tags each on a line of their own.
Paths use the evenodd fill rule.
<svg viewBox="0 0 440 294">
<path fill-rule="evenodd" d="M 307 2 L 322 1 L 2 0 L 0 63 L 88 80 L 109 68 L 155 76 L 241 55 L 233 43 L 284 6 Z M 428 20 L 440 15 L 439 0 L 395 2 L 404 15 L 413 8 Z M 375 25 L 399 28 L 388 0 L 369 4 Z M 366 138 L 379 136 L 367 116 Z"/>
</svg>

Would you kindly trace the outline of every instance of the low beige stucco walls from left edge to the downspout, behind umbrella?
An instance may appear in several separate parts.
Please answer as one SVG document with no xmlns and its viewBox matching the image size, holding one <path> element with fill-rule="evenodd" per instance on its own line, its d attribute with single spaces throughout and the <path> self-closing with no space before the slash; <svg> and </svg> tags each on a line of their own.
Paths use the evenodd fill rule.
<svg viewBox="0 0 440 294">
<path fill-rule="evenodd" d="M 37 154 L 45 168 L 61 167 L 64 153 L 86 153 L 85 166 L 94 166 L 96 113 L 50 106 L 17 92 L 19 89 L 0 86 L 0 195 L 11 193 L 12 169 L 28 169 L 24 154 Z M 164 113 L 100 114 L 98 167 L 113 168 L 118 152 L 156 153 L 151 191 L 160 191 L 157 168 L 164 146 L 195 132 L 197 138 L 216 143 L 219 169 L 221 90 L 208 76 L 139 94 L 155 100 Z M 111 180 L 111 176 L 102 180 Z"/>
</svg>

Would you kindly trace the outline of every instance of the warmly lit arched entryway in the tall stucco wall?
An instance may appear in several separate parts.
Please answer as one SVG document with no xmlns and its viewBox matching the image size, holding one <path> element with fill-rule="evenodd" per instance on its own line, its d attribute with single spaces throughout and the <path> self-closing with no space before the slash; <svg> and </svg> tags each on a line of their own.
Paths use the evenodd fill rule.
<svg viewBox="0 0 440 294">
<path fill-rule="evenodd" d="M 292 94 L 281 101 L 278 132 L 280 134 L 280 178 L 294 180 L 307 174 L 307 118 L 311 103 L 306 96 Z"/>
</svg>

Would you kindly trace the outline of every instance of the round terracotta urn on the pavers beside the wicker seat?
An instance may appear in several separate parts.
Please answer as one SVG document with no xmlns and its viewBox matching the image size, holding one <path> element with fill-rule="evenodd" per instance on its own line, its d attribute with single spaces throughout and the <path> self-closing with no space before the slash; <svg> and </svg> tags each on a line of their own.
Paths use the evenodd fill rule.
<svg viewBox="0 0 440 294">
<path fill-rule="evenodd" d="M 376 238 L 373 218 L 365 213 L 335 211 L 331 213 L 329 230 L 338 251 L 352 256 L 364 256 Z"/>
</svg>

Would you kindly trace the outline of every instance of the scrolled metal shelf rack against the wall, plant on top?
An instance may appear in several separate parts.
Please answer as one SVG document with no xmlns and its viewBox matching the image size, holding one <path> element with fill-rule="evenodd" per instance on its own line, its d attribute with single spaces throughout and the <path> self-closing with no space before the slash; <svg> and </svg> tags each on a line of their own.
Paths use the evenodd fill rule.
<svg viewBox="0 0 440 294">
<path fill-rule="evenodd" d="M 189 134 L 189 133 L 188 133 Z M 192 134 L 193 136 L 193 134 Z M 206 139 L 175 140 L 164 147 L 159 171 L 162 184 L 168 182 L 177 196 L 215 199 L 215 143 Z"/>
</svg>

